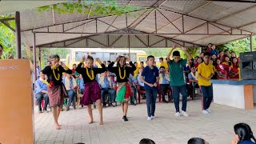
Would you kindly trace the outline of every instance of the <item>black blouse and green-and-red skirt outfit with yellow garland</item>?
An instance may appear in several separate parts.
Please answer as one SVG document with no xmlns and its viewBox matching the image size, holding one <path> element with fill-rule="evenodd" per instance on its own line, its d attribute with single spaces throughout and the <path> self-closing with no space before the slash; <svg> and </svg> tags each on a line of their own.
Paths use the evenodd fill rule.
<svg viewBox="0 0 256 144">
<path fill-rule="evenodd" d="M 129 75 L 136 70 L 133 62 L 130 62 L 131 67 L 113 67 L 114 62 L 111 62 L 108 66 L 110 72 L 116 74 L 118 89 L 117 89 L 117 102 L 129 102 L 130 96 L 133 95 L 133 91 L 131 90 L 130 83 L 128 81 Z"/>
</svg>

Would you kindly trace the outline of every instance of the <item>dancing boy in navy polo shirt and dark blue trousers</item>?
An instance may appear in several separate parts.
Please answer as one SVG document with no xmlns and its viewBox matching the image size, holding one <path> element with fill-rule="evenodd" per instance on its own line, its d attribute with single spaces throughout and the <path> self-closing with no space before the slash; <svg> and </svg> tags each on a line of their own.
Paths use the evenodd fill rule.
<svg viewBox="0 0 256 144">
<path fill-rule="evenodd" d="M 158 68 L 154 66 L 154 56 L 147 57 L 148 66 L 142 71 L 141 80 L 145 84 L 146 90 L 146 108 L 147 120 L 154 119 L 155 102 L 158 94 L 159 72 Z"/>
</svg>

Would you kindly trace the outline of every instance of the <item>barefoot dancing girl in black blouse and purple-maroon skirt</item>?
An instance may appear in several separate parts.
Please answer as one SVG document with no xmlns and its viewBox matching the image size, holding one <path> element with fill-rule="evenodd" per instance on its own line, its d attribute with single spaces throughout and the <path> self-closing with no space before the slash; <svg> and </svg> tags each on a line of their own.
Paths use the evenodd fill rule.
<svg viewBox="0 0 256 144">
<path fill-rule="evenodd" d="M 86 68 L 82 68 L 82 64 L 86 61 Z M 94 122 L 93 111 L 91 109 L 91 105 L 93 102 L 97 103 L 98 113 L 99 113 L 99 124 L 103 125 L 102 118 L 102 96 L 101 89 L 98 86 L 98 82 L 96 81 L 96 75 L 102 74 L 106 71 L 106 66 L 102 64 L 99 58 L 96 58 L 96 61 L 102 66 L 102 68 L 94 68 L 94 58 L 90 55 L 82 57 L 82 61 L 78 64 L 76 71 L 79 74 L 82 74 L 83 81 L 85 83 L 85 91 L 83 93 L 81 99 L 81 105 L 87 106 L 88 114 L 90 116 L 89 124 Z"/>
</svg>

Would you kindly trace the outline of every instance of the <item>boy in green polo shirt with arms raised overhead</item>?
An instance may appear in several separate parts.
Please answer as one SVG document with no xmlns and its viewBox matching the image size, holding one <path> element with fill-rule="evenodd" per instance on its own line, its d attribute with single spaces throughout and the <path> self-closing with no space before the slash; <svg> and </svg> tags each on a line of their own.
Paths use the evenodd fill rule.
<svg viewBox="0 0 256 144">
<path fill-rule="evenodd" d="M 189 114 L 186 113 L 186 101 L 187 101 L 187 94 L 186 94 L 186 79 L 184 77 L 183 69 L 186 66 L 186 59 L 181 59 L 181 55 L 178 50 L 174 51 L 176 46 L 170 50 L 169 54 L 167 55 L 168 63 L 170 66 L 170 86 L 172 87 L 172 93 L 174 98 L 174 105 L 176 109 L 175 116 L 180 116 L 179 112 L 179 93 L 182 94 L 182 115 L 188 117 Z M 181 47 L 182 51 L 186 53 L 186 58 L 188 60 L 192 59 L 190 54 L 186 51 L 186 48 Z M 173 53 L 174 51 L 174 53 Z M 170 60 L 170 54 L 173 53 L 174 60 Z"/>
</svg>

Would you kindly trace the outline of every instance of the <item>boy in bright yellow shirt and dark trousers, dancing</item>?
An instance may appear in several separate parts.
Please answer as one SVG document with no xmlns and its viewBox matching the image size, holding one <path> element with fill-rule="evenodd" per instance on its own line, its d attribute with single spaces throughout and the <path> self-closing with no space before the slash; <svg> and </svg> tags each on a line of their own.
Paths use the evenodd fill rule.
<svg viewBox="0 0 256 144">
<path fill-rule="evenodd" d="M 213 100 L 213 86 L 210 79 L 214 76 L 214 66 L 209 61 L 210 53 L 206 52 L 204 62 L 198 66 L 198 85 L 202 91 L 203 114 L 210 114 L 210 103 Z"/>
</svg>

